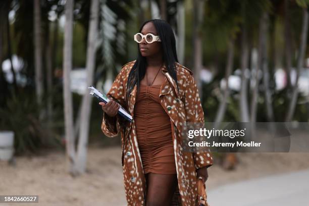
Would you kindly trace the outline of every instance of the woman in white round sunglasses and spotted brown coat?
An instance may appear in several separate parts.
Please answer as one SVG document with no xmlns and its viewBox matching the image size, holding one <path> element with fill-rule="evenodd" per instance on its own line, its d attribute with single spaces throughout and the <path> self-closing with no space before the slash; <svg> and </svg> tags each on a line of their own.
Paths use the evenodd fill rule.
<svg viewBox="0 0 309 206">
<path fill-rule="evenodd" d="M 193 73 L 177 60 L 175 36 L 163 20 L 145 22 L 134 35 L 138 58 L 122 67 L 108 97 L 101 129 L 121 131 L 128 205 L 195 205 L 197 177 L 207 180 L 209 150 L 185 152 L 183 126 L 204 123 Z M 161 71 L 161 72 L 160 72 Z M 117 115 L 120 105 L 133 122 Z"/>
</svg>

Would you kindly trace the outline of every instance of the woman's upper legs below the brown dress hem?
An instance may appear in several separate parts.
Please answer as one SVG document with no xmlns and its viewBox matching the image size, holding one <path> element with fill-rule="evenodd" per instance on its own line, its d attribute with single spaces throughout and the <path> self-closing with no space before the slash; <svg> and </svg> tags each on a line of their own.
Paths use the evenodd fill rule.
<svg viewBox="0 0 309 206">
<path fill-rule="evenodd" d="M 147 173 L 146 206 L 170 206 L 177 186 L 177 175 Z"/>
</svg>

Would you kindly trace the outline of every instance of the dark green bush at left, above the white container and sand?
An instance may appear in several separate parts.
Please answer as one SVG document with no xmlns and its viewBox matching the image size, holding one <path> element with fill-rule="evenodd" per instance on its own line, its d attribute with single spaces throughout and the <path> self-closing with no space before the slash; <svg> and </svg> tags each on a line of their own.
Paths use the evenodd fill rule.
<svg viewBox="0 0 309 206">
<path fill-rule="evenodd" d="M 46 120 L 39 120 L 40 109 L 35 96 L 27 94 L 13 94 L 0 109 L 0 129 L 14 131 L 17 154 L 35 152 L 41 146 L 55 146 L 59 142 L 57 135 L 47 128 Z"/>
</svg>

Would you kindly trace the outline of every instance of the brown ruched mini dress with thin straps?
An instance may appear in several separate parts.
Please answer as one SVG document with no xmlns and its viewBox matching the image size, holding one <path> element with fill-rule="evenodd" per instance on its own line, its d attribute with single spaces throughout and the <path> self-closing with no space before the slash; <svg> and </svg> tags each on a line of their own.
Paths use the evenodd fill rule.
<svg viewBox="0 0 309 206">
<path fill-rule="evenodd" d="M 152 83 L 147 86 L 147 81 L 147 85 L 140 85 L 134 106 L 134 121 L 144 174 L 177 174 L 170 117 L 160 104 L 161 85 Z"/>
</svg>

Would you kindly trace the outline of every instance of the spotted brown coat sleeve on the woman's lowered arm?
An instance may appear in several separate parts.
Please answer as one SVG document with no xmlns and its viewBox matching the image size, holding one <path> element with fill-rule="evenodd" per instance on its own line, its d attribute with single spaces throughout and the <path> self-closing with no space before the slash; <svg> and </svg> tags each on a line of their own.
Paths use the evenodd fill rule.
<svg viewBox="0 0 309 206">
<path fill-rule="evenodd" d="M 186 112 L 186 122 L 198 125 L 198 128 L 204 126 L 204 112 L 201 106 L 196 82 L 190 74 L 184 91 L 184 106 Z M 192 152 L 195 169 L 210 167 L 213 165 L 213 157 L 209 148 L 203 148 L 197 152 Z"/>
</svg>

